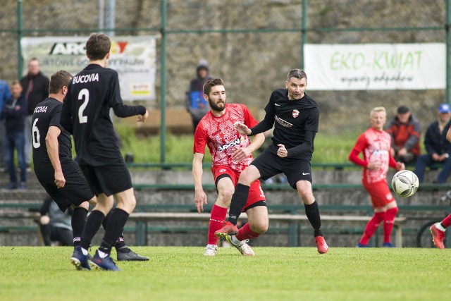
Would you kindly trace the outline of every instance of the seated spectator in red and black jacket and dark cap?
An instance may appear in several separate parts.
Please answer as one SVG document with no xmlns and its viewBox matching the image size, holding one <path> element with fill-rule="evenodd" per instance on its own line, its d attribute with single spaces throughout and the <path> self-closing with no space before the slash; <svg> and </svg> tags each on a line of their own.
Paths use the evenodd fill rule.
<svg viewBox="0 0 451 301">
<path fill-rule="evenodd" d="M 412 115 L 407 106 L 397 108 L 397 114 L 390 123 L 386 131 L 392 137 L 390 154 L 395 161 L 404 164 L 415 163 L 420 155 L 420 123 Z"/>
</svg>

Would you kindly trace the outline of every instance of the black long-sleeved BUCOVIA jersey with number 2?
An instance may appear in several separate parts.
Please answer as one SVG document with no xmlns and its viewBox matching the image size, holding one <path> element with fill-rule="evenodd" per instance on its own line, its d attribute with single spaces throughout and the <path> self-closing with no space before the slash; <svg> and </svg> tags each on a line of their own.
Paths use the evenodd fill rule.
<svg viewBox="0 0 451 301">
<path fill-rule="evenodd" d="M 115 70 L 89 64 L 70 80 L 60 122 L 73 134 L 79 164 L 104 166 L 123 160 L 109 115 L 110 108 L 116 113 L 119 106 L 126 107 L 121 117 L 145 113 L 143 106 L 123 105 Z"/>
</svg>

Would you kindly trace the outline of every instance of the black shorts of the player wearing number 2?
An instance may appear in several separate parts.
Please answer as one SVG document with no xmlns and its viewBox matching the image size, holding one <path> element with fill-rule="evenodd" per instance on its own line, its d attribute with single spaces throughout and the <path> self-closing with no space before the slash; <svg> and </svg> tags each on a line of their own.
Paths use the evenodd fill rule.
<svg viewBox="0 0 451 301">
<path fill-rule="evenodd" d="M 104 166 L 80 165 L 95 195 L 107 197 L 132 188 L 132 178 L 124 161 Z"/>
</svg>

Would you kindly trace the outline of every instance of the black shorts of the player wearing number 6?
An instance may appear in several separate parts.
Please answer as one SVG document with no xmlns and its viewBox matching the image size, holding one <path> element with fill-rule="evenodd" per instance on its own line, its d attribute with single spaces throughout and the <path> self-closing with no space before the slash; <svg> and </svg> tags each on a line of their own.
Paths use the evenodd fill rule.
<svg viewBox="0 0 451 301">
<path fill-rule="evenodd" d="M 82 202 L 89 201 L 94 197 L 91 188 L 83 176 L 80 168 L 70 172 L 64 173 L 66 184 L 63 188 L 57 188 L 55 183 L 44 183 L 48 178 L 41 180 L 39 175 L 36 175 L 42 187 L 47 191 L 52 199 L 58 204 L 61 211 L 66 211 L 70 205 L 80 206 Z"/>
</svg>

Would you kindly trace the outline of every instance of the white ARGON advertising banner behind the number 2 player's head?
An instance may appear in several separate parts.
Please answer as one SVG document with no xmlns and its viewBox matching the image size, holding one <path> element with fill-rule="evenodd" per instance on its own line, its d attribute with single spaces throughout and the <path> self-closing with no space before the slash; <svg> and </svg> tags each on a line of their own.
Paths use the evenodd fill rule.
<svg viewBox="0 0 451 301">
<path fill-rule="evenodd" d="M 75 75 L 89 64 L 85 44 L 88 37 L 24 37 L 21 40 L 24 63 L 39 59 L 48 77 L 58 70 Z M 154 36 L 110 37 L 108 68 L 118 72 L 124 100 L 155 99 L 156 41 Z"/>
</svg>

